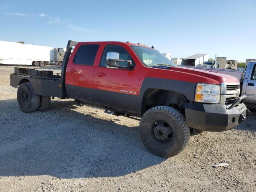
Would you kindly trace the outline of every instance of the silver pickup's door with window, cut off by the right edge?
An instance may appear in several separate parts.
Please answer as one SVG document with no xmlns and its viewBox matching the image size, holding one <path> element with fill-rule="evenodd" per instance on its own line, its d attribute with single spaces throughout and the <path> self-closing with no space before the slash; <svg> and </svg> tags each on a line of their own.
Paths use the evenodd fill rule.
<svg viewBox="0 0 256 192">
<path fill-rule="evenodd" d="M 249 74 L 248 76 L 244 77 L 243 88 L 242 88 L 242 90 L 245 89 L 245 95 L 246 95 L 245 102 L 256 104 L 256 63 L 251 62 L 251 67 L 250 69 L 247 68 L 247 70 L 249 70 Z"/>
</svg>

